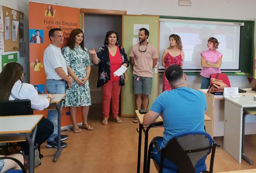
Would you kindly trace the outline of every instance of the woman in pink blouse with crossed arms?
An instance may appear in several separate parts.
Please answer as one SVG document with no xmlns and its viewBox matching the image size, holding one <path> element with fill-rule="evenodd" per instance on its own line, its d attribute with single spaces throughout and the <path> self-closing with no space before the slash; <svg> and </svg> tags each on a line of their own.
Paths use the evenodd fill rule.
<svg viewBox="0 0 256 173">
<path fill-rule="evenodd" d="M 218 49 L 219 42 L 216 38 L 210 37 L 208 39 L 207 51 L 201 53 L 201 66 L 202 76 L 201 89 L 207 89 L 210 85 L 210 76 L 214 73 L 221 73 L 220 66 L 222 63 L 222 53 L 216 51 Z"/>
</svg>

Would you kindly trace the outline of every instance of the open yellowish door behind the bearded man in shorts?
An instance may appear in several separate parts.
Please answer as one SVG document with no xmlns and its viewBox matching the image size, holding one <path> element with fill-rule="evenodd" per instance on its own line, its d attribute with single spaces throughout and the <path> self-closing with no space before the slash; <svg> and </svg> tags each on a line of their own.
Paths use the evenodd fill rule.
<svg viewBox="0 0 256 173">
<path fill-rule="evenodd" d="M 123 47 L 127 53 L 128 59 L 130 61 L 130 50 L 133 46 L 133 43 L 138 41 L 138 29 L 140 26 L 146 28 L 148 27 L 150 36 L 149 42 L 156 47 L 157 51 L 159 44 L 159 16 L 146 16 L 146 15 L 123 15 Z M 140 27 L 140 28 L 142 28 Z M 158 53 L 159 54 L 159 53 Z M 132 71 L 133 67 L 130 65 L 128 67 L 128 81 L 122 87 L 122 96 L 121 96 L 121 116 L 134 116 L 135 114 L 135 95 L 133 94 L 133 84 L 132 84 Z M 152 106 L 152 103 L 158 96 L 158 67 L 154 71 L 154 77 L 152 81 L 152 92 L 149 96 L 149 105 L 148 108 Z"/>
</svg>

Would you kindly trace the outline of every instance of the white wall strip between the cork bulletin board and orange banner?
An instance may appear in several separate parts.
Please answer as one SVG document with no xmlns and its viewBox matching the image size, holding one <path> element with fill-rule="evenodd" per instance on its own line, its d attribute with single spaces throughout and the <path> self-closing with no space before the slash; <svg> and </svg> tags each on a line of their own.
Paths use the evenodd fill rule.
<svg viewBox="0 0 256 173">
<path fill-rule="evenodd" d="M 24 39 L 26 44 L 26 57 L 18 57 L 18 62 L 23 66 L 24 72 L 26 73 L 26 77 L 24 78 L 23 81 L 28 83 L 30 81 L 29 79 L 28 0 L 0 0 L 0 6 L 6 6 L 14 10 L 24 12 Z M 15 52 L 6 52 L 6 53 L 15 53 Z"/>
</svg>

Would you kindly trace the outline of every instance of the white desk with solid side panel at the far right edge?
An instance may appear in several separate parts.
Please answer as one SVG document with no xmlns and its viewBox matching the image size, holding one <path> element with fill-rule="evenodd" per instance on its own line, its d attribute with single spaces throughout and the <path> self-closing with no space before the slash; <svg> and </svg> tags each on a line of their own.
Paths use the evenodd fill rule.
<svg viewBox="0 0 256 173">
<path fill-rule="evenodd" d="M 224 149 L 241 163 L 245 159 L 252 163 L 244 154 L 244 121 L 246 113 L 244 109 L 256 108 L 256 100 L 253 96 L 241 96 L 239 98 L 225 98 L 224 110 Z M 243 154 L 242 154 L 243 153 Z"/>
</svg>

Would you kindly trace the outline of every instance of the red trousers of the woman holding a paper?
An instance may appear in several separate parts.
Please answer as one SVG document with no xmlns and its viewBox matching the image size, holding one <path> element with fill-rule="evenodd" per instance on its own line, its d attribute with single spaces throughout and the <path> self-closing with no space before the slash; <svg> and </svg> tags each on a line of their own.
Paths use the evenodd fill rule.
<svg viewBox="0 0 256 173">
<path fill-rule="evenodd" d="M 118 117 L 118 108 L 119 108 L 119 95 L 121 86 L 119 85 L 120 80 L 118 81 L 108 81 L 102 86 L 103 98 L 102 98 L 102 113 L 103 118 L 109 118 L 110 112 L 110 100 L 112 102 L 112 113 L 113 117 Z"/>
</svg>

